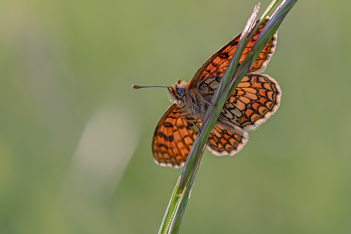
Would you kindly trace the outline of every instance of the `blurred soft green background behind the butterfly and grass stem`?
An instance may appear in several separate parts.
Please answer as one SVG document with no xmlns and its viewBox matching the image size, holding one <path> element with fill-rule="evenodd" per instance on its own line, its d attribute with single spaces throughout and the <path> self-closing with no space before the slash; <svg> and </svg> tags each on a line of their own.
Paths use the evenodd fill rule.
<svg viewBox="0 0 351 234">
<path fill-rule="evenodd" d="M 131 86 L 189 81 L 257 3 L 1 1 L 0 233 L 157 233 L 181 171 L 151 154 L 171 103 Z M 205 152 L 181 233 L 351 233 L 350 7 L 287 15 L 264 72 L 280 108 L 239 154 Z"/>
</svg>

